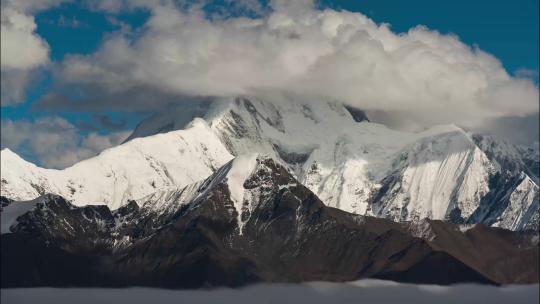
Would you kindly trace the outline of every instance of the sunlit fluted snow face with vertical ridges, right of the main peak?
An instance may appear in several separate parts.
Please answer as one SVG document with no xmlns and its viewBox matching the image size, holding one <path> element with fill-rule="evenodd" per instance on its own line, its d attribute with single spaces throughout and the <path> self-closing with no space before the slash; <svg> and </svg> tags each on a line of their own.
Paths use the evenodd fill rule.
<svg viewBox="0 0 540 304">
<path fill-rule="evenodd" d="M 396 221 L 463 223 L 489 191 L 491 171 L 487 157 L 461 130 L 426 137 L 404 150 L 399 167 L 375 196 L 372 211 Z"/>
</svg>

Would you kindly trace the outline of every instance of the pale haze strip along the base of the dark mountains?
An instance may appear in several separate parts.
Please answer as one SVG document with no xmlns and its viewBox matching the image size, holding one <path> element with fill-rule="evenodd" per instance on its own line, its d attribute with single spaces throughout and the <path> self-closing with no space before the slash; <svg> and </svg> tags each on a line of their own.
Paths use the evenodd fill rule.
<svg viewBox="0 0 540 304">
<path fill-rule="evenodd" d="M 538 303 L 539 285 L 411 285 L 379 280 L 349 283 L 258 284 L 240 289 L 166 290 L 152 288 L 2 289 L 4 304 L 18 303 Z"/>
</svg>

